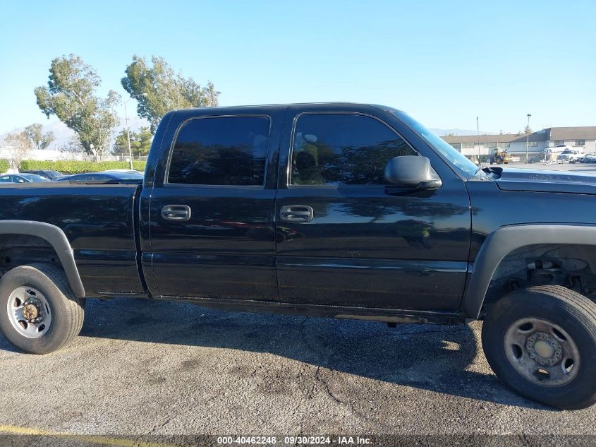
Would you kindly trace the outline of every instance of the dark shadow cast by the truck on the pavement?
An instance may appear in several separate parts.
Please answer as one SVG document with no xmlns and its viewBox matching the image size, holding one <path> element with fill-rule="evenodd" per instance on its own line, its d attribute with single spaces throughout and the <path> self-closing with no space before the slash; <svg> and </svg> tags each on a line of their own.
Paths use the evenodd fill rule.
<svg viewBox="0 0 596 447">
<path fill-rule="evenodd" d="M 469 326 L 387 328 L 374 321 L 233 313 L 143 299 L 90 299 L 81 335 L 269 352 L 403 386 L 552 410 L 509 391 L 493 374 L 466 370 L 478 353 Z M 0 349 L 13 350 L 4 337 Z"/>
</svg>

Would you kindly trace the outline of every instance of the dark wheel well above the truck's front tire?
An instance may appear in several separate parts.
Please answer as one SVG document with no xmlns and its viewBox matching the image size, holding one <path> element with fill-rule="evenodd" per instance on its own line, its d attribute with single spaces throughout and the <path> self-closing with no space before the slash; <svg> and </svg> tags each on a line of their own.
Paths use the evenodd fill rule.
<svg viewBox="0 0 596 447">
<path fill-rule="evenodd" d="M 533 285 L 562 285 L 596 301 L 596 246 L 536 244 L 511 251 L 494 270 L 480 317 L 505 294 Z"/>
</svg>

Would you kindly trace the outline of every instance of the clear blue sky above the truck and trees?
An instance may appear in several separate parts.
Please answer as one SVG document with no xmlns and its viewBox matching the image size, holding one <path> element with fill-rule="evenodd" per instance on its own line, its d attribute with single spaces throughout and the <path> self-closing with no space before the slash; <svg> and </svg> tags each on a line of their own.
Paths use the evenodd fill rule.
<svg viewBox="0 0 596 447">
<path fill-rule="evenodd" d="M 375 102 L 430 127 L 596 125 L 596 1 L 3 1 L 0 133 L 48 120 L 56 56 L 120 86 L 164 56 L 221 105 Z M 133 107 L 134 108 L 134 107 Z M 123 114 L 123 112 L 121 112 Z M 55 120 L 52 118 L 51 120 Z"/>
</svg>

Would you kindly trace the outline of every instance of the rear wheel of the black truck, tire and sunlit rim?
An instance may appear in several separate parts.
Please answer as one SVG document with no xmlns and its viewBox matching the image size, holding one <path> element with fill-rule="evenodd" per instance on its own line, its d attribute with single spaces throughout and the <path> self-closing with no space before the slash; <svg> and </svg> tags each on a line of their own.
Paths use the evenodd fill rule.
<svg viewBox="0 0 596 447">
<path fill-rule="evenodd" d="M 73 340 L 84 306 L 54 266 L 19 266 L 0 278 L 0 329 L 25 352 L 47 354 Z"/>
</svg>

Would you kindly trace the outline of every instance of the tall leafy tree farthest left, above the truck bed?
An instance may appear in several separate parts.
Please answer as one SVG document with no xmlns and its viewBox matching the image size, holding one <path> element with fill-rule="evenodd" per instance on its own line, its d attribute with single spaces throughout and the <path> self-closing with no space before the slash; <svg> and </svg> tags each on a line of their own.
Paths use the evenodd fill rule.
<svg viewBox="0 0 596 447">
<path fill-rule="evenodd" d="M 56 115 L 78 134 L 85 153 L 102 158 L 118 125 L 114 107 L 120 96 L 110 90 L 97 95 L 101 80 L 95 70 L 74 54 L 51 61 L 47 86 L 37 87 L 37 105 L 49 118 Z"/>
</svg>

